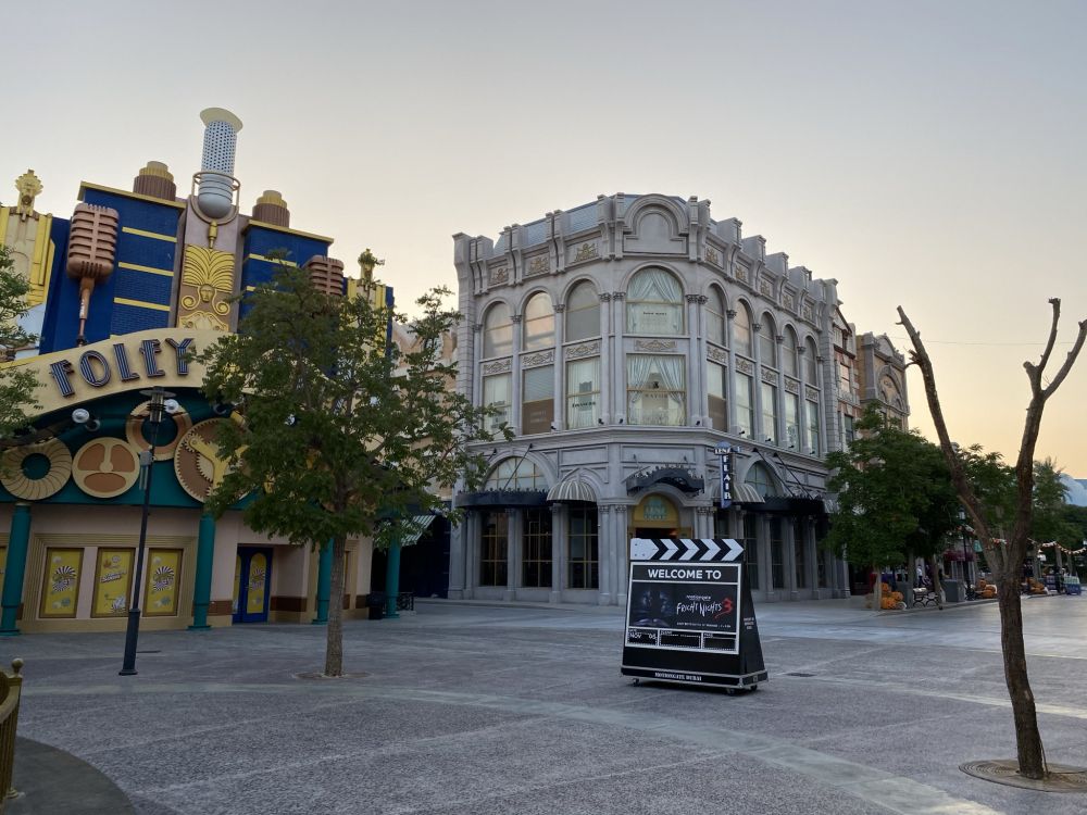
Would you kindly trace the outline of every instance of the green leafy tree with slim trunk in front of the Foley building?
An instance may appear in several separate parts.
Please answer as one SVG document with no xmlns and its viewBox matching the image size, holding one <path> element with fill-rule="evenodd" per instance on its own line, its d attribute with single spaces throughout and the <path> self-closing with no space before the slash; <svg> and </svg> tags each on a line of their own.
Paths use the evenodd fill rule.
<svg viewBox="0 0 1087 815">
<path fill-rule="evenodd" d="M 368 287 L 364 287 L 367 292 Z M 343 669 L 343 553 L 349 537 L 387 544 L 407 519 L 442 511 L 438 489 L 483 462 L 465 443 L 487 439 L 487 411 L 451 391 L 455 367 L 442 362 L 441 338 L 459 321 L 435 289 L 410 321 L 407 353 L 387 340 L 390 318 L 408 322 L 371 297 L 325 294 L 305 271 L 284 265 L 245 296 L 238 334 L 198 359 L 209 397 L 238 406 L 220 447 L 230 471 L 212 493 L 221 515 L 245 502 L 254 530 L 295 544 L 332 542 L 326 676 Z"/>
</svg>

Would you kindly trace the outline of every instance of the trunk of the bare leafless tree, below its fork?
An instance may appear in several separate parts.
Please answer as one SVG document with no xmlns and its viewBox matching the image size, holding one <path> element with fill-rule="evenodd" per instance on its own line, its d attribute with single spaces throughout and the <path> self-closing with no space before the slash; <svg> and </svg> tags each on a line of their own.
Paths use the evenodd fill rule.
<svg viewBox="0 0 1087 815">
<path fill-rule="evenodd" d="M 1020 774 L 1027 778 L 1046 777 L 1046 751 L 1038 732 L 1038 714 L 1026 673 L 1026 648 L 1023 644 L 1023 606 L 1019 575 L 1011 569 L 997 586 L 1000 605 L 1000 647 L 1004 652 L 1004 682 L 1015 718 L 1015 750 Z"/>
</svg>

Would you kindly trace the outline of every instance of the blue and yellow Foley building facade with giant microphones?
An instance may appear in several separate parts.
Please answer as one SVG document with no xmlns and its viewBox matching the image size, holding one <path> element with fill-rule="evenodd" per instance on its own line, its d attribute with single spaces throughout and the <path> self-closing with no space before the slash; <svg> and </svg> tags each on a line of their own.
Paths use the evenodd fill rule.
<svg viewBox="0 0 1087 815">
<path fill-rule="evenodd" d="M 0 244 L 30 284 L 24 323 L 38 335 L 7 365 L 38 380 L 33 426 L 0 442 L 0 635 L 121 630 L 140 592 L 147 628 L 265 620 L 322 622 L 330 548 L 320 552 L 249 529 L 241 512 L 218 519 L 204 501 L 225 463 L 212 443 L 230 406 L 201 392 L 187 351 L 237 330 L 236 296 L 299 264 L 330 293 L 352 293 L 333 239 L 290 226 L 266 190 L 240 211 L 234 150 L 241 122 L 209 109 L 201 170 L 177 195 L 165 164 L 148 162 L 132 190 L 84 183 L 68 218 L 40 213 L 33 171 L 0 206 Z M 285 260 L 284 260 L 285 259 Z M 375 296 L 392 304 L 392 291 Z M 148 398 L 160 386 L 179 410 L 152 439 Z M 140 452 L 154 448 L 147 559 L 134 569 L 143 487 Z M 372 551 L 348 544 L 345 597 L 365 612 Z"/>
</svg>

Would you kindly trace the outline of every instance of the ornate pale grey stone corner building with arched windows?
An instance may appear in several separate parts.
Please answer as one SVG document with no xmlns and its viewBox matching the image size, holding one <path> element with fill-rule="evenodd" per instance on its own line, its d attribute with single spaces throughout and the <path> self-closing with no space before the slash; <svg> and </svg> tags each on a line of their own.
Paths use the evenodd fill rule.
<svg viewBox="0 0 1087 815">
<path fill-rule="evenodd" d="M 622 604 L 629 539 L 670 536 L 741 540 L 758 600 L 848 594 L 817 544 L 823 460 L 862 383 L 892 381 L 904 418 L 903 360 L 879 344 L 880 369 L 858 371 L 837 281 L 740 227 L 694 197 L 619 193 L 497 242 L 454 236 L 458 388 L 514 438 L 482 444 L 486 486 L 454 497 L 449 597 Z"/>
</svg>

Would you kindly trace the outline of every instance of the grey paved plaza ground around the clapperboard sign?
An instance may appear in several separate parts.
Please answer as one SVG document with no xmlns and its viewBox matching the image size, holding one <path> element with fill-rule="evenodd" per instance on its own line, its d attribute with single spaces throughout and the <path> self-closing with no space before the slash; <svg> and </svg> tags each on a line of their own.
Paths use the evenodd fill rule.
<svg viewBox="0 0 1087 815">
<path fill-rule="evenodd" d="M 61 760 L 140 815 L 1087 811 L 958 768 L 1015 753 L 994 603 L 757 613 L 771 679 L 736 695 L 634 685 L 622 614 L 600 607 L 417 602 L 346 624 L 340 680 L 298 678 L 323 665 L 317 626 L 146 631 L 135 677 L 117 676 L 123 634 L 23 636 L 0 656 L 26 661 L 20 735 L 74 756 L 55 778 L 72 815 L 126 810 Z M 1024 615 L 1047 754 L 1087 765 L 1087 601 Z"/>
</svg>

